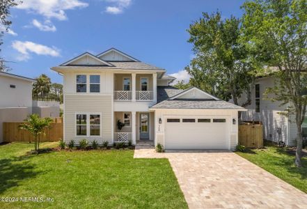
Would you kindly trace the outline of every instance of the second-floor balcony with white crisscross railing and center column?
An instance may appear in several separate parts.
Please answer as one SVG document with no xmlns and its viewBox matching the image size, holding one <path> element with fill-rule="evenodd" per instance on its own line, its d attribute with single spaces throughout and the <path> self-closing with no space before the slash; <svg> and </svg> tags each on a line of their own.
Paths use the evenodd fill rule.
<svg viewBox="0 0 307 209">
<path fill-rule="evenodd" d="M 115 101 L 154 101 L 156 100 L 157 75 L 115 74 Z"/>
</svg>

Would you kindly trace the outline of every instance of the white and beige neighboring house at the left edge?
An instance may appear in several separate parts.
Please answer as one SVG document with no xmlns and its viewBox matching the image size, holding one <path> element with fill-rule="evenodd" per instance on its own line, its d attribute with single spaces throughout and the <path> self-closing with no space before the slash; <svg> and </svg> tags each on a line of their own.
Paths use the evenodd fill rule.
<svg viewBox="0 0 307 209">
<path fill-rule="evenodd" d="M 0 72 L 0 143 L 3 122 L 20 122 L 32 113 L 34 79 Z"/>
</svg>

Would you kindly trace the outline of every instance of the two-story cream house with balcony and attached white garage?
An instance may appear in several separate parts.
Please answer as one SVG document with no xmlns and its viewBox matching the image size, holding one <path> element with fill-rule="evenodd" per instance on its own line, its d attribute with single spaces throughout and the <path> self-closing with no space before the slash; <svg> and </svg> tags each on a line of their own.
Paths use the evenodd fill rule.
<svg viewBox="0 0 307 209">
<path fill-rule="evenodd" d="M 198 88 L 168 86 L 166 70 L 111 48 L 88 52 L 52 70 L 63 75 L 64 140 L 140 139 L 172 148 L 234 149 L 244 111 Z M 125 126 L 120 129 L 118 123 Z"/>
</svg>

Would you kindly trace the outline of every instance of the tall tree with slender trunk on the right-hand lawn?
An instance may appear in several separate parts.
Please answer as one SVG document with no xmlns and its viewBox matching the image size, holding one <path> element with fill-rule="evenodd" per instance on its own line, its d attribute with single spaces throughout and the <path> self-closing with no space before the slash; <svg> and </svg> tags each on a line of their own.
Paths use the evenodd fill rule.
<svg viewBox="0 0 307 209">
<path fill-rule="evenodd" d="M 288 104 L 297 125 L 295 164 L 301 167 L 301 124 L 306 114 L 307 2 L 306 0 L 246 1 L 243 24 L 246 44 L 257 51 L 263 65 L 274 67 L 272 100 Z"/>
</svg>

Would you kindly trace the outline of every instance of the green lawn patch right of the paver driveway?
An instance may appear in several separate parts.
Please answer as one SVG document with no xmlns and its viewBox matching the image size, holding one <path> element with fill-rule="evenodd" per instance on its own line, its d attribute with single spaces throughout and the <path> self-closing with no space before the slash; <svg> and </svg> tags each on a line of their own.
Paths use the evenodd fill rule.
<svg viewBox="0 0 307 209">
<path fill-rule="evenodd" d="M 307 193 L 307 157 L 302 158 L 303 167 L 297 168 L 294 155 L 286 153 L 285 148 L 265 146 L 265 149 L 237 154 Z"/>
</svg>

